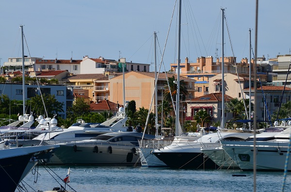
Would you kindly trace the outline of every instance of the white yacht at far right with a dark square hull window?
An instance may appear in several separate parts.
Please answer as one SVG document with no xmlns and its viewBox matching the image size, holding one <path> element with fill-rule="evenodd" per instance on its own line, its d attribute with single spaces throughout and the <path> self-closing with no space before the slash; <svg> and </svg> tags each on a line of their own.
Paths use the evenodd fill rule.
<svg viewBox="0 0 291 192">
<path fill-rule="evenodd" d="M 261 133 L 262 134 L 262 133 Z M 256 142 L 257 161 L 256 168 L 260 171 L 283 171 L 286 155 L 290 142 L 291 127 L 274 135 L 274 139 Z M 221 141 L 222 148 L 234 159 L 242 170 L 253 170 L 254 168 L 254 143 L 249 141 Z M 291 163 L 291 159 L 289 162 Z M 288 167 L 288 171 L 291 167 Z"/>
</svg>

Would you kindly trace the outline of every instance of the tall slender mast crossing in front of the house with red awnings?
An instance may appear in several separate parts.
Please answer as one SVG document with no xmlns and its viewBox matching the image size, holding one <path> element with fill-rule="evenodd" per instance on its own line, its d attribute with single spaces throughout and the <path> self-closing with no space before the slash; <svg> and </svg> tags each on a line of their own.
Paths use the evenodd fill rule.
<svg viewBox="0 0 291 192">
<path fill-rule="evenodd" d="M 222 11 L 222 18 L 221 18 L 221 50 L 222 50 L 222 58 L 221 58 L 221 81 L 222 81 L 222 118 L 221 118 L 221 129 L 224 129 L 224 123 L 225 123 L 225 117 L 224 117 L 224 110 L 225 110 L 225 99 L 224 99 L 224 95 L 225 95 L 225 82 L 224 82 L 224 10 L 223 8 L 221 8 Z"/>
</svg>

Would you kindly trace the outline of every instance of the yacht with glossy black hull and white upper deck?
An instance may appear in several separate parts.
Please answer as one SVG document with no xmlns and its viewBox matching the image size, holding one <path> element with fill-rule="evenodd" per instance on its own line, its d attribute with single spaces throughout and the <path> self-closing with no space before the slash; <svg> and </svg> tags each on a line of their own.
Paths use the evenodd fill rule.
<svg viewBox="0 0 291 192">
<path fill-rule="evenodd" d="M 173 168 L 216 169 L 216 165 L 201 148 L 219 147 L 220 140 L 245 140 L 252 133 L 210 133 L 196 141 L 173 143 L 164 148 L 154 150 L 154 155 L 167 166 Z"/>
</svg>

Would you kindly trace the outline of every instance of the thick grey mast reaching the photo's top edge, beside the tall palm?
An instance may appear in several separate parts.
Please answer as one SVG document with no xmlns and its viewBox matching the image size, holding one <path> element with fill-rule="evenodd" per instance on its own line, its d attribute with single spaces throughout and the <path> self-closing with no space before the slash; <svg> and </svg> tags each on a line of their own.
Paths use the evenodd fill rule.
<svg viewBox="0 0 291 192">
<path fill-rule="evenodd" d="M 179 18 L 178 18 L 178 60 L 177 60 L 177 95 L 176 95 L 176 136 L 179 135 L 178 124 L 179 122 L 179 101 L 180 101 L 180 46 L 181 46 L 181 4 L 179 0 Z"/>
</svg>

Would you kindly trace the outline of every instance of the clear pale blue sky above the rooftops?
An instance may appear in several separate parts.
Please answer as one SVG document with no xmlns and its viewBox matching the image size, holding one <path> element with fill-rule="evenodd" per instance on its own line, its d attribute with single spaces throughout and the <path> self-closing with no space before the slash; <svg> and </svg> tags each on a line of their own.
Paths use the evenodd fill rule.
<svg viewBox="0 0 291 192">
<path fill-rule="evenodd" d="M 44 59 L 126 58 L 128 62 L 151 64 L 151 71 L 155 68 L 156 32 L 157 69 L 164 50 L 161 72 L 168 71 L 178 58 L 175 3 L 1 0 L 0 65 L 10 57 L 22 57 L 19 26 L 23 25 L 25 55 Z M 249 29 L 255 47 L 256 0 L 182 0 L 181 62 L 186 57 L 191 62 L 201 56 L 221 57 L 221 8 L 225 9 L 227 24 L 225 56 L 234 55 L 238 61 L 249 58 Z M 291 0 L 259 0 L 258 57 L 290 54 L 290 8 Z"/>
</svg>

